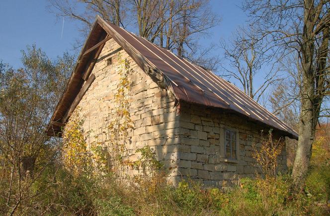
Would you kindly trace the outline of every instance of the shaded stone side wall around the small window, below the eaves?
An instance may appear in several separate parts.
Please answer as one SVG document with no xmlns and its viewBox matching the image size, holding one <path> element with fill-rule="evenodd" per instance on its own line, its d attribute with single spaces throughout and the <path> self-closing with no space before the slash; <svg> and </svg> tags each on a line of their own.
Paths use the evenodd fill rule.
<svg viewBox="0 0 330 216">
<path fill-rule="evenodd" d="M 252 145 L 260 147 L 260 134 L 267 136 L 269 128 L 261 127 L 247 117 L 226 113 L 215 108 L 181 103 L 180 105 L 179 167 L 172 175 L 189 175 L 204 185 L 231 186 L 240 178 L 253 177 L 260 173 L 252 157 Z M 239 137 L 237 160 L 225 158 L 225 128 L 235 130 Z M 273 132 L 274 139 L 280 135 Z M 184 150 L 184 151 L 183 151 Z M 279 167 L 286 170 L 286 152 L 283 148 Z"/>
</svg>

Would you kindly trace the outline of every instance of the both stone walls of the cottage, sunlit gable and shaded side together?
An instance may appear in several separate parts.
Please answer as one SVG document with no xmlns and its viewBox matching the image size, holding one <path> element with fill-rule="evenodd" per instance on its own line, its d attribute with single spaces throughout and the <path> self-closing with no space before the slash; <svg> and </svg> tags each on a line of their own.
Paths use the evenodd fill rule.
<svg viewBox="0 0 330 216">
<path fill-rule="evenodd" d="M 88 144 L 97 141 L 104 147 L 108 145 L 108 125 L 116 115 L 114 95 L 120 79 L 120 59 L 126 58 L 134 71 L 128 77 L 131 82 L 129 113 L 134 128 L 129 130 L 126 140 L 126 159 L 137 160 L 139 156 L 135 150 L 150 146 L 158 160 L 165 167 L 171 167 L 169 176 L 174 184 L 190 176 L 206 186 L 231 186 L 240 178 L 253 177 L 260 172 L 253 165 L 252 143 L 258 143 L 260 131 L 268 128 L 219 109 L 185 103 L 174 107 L 174 99 L 166 90 L 119 48 L 113 39 L 105 44 L 92 70 L 96 78 L 79 104 L 85 117 L 83 129 Z M 238 160 L 227 160 L 224 156 L 226 127 L 238 132 Z M 279 134 L 275 133 L 274 137 L 278 138 Z M 280 164 L 286 169 L 285 148 Z M 127 174 L 137 173 L 130 168 L 126 171 Z"/>
</svg>

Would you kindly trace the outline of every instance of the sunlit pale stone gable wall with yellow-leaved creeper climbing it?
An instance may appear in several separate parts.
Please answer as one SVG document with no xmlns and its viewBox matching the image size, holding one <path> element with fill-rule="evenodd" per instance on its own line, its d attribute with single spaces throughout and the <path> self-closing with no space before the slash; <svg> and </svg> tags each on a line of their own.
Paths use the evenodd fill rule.
<svg viewBox="0 0 330 216">
<path fill-rule="evenodd" d="M 120 79 L 118 73 L 121 59 L 127 59 L 133 68 L 128 80 L 131 82 L 129 94 L 129 113 L 134 129 L 129 130 L 126 140 L 127 157 L 136 161 L 137 148 L 150 146 L 165 166 L 172 166 L 177 161 L 177 143 L 179 143 L 178 118 L 174 99 L 167 95 L 124 51 L 114 54 L 120 46 L 110 39 L 104 45 L 91 74 L 95 80 L 79 103 L 85 117 L 83 130 L 87 136 L 87 145 L 96 141 L 108 145 L 108 124 L 114 118 L 115 98 Z M 119 49 L 120 50 L 120 49 Z M 107 59 L 112 57 L 112 64 L 107 65 Z M 77 112 L 77 109 L 75 110 Z M 136 170 L 127 167 L 127 174 L 136 174 Z"/>
</svg>

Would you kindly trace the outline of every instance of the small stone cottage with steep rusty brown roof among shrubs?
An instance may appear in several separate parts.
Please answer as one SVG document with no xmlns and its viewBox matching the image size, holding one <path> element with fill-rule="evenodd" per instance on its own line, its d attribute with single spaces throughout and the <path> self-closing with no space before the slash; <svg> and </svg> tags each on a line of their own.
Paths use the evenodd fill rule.
<svg viewBox="0 0 330 216">
<path fill-rule="evenodd" d="M 92 27 L 77 65 L 47 128 L 50 136 L 73 112 L 85 116 L 87 142 L 102 137 L 114 113 L 121 59 L 130 62 L 127 158 L 150 146 L 159 161 L 172 167 L 175 183 L 190 176 L 205 185 L 229 185 L 253 176 L 252 144 L 260 132 L 272 129 L 275 138 L 298 134 L 258 105 L 233 84 L 211 71 L 179 58 L 142 37 L 107 23 L 100 17 Z M 280 164 L 286 168 L 285 148 Z M 133 170 L 128 170 L 134 173 Z"/>
</svg>

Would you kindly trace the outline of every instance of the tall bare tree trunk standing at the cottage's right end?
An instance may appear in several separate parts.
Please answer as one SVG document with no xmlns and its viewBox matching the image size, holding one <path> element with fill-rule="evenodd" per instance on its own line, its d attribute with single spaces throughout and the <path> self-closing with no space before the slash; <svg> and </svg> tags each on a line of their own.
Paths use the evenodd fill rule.
<svg viewBox="0 0 330 216">
<path fill-rule="evenodd" d="M 316 123 L 319 113 L 315 110 L 315 71 L 314 35 L 313 35 L 313 0 L 305 0 L 304 31 L 302 46 L 302 89 L 301 112 L 299 117 L 299 139 L 293 164 L 291 190 L 298 193 L 303 190 L 314 142 Z"/>
</svg>

